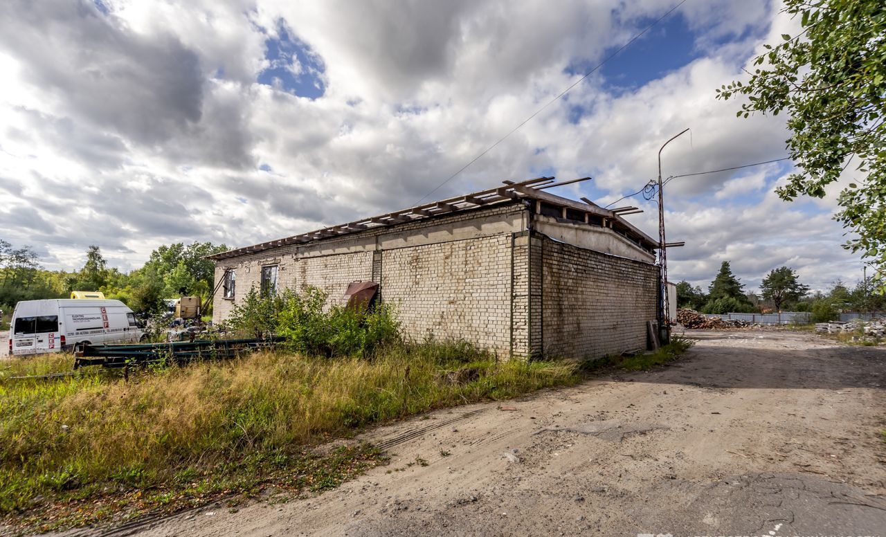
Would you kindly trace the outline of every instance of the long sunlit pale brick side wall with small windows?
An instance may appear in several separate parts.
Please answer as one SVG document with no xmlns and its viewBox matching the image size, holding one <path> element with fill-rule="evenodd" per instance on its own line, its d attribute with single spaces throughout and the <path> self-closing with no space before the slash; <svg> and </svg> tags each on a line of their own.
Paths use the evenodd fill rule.
<svg viewBox="0 0 886 537">
<path fill-rule="evenodd" d="M 258 287 L 261 266 L 276 264 L 280 289 L 315 285 L 340 303 L 348 283 L 377 281 L 409 337 L 467 339 L 509 356 L 511 241 L 525 212 L 504 204 L 216 261 L 216 281 L 236 270 L 237 297 L 224 300 L 219 289 L 214 321 Z"/>
</svg>

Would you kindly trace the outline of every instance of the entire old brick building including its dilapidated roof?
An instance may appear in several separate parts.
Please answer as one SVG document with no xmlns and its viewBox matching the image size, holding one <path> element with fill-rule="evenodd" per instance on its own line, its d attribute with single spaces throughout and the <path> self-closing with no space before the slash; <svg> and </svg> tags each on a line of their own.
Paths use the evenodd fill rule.
<svg viewBox="0 0 886 537">
<path fill-rule="evenodd" d="M 413 339 L 465 339 L 502 358 L 621 354 L 649 346 L 657 241 L 542 177 L 208 256 L 214 323 L 251 288 L 315 286 L 344 304 L 377 283 Z"/>
</svg>

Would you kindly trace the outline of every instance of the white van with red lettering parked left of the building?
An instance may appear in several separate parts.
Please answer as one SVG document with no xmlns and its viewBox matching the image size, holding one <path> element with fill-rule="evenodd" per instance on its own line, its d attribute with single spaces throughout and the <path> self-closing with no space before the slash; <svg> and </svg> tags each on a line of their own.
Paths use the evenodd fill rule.
<svg viewBox="0 0 886 537">
<path fill-rule="evenodd" d="M 120 300 L 22 300 L 15 305 L 9 354 L 55 353 L 77 343 L 134 343 L 144 332 Z"/>
</svg>

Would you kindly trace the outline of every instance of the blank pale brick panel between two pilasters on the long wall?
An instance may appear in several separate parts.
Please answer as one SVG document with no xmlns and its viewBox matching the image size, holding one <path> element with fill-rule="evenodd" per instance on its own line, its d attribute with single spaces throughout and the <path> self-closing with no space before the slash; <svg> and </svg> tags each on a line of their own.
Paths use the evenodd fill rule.
<svg viewBox="0 0 886 537">
<path fill-rule="evenodd" d="M 404 332 L 510 354 L 511 234 L 385 250 L 382 297 Z"/>
</svg>

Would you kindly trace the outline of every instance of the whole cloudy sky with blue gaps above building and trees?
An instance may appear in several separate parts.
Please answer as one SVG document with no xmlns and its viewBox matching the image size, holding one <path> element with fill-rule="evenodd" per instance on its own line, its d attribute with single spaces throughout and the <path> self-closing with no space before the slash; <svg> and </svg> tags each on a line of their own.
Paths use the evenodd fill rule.
<svg viewBox="0 0 886 537">
<path fill-rule="evenodd" d="M 688 0 L 462 174 L 478 153 L 676 0 L 11 0 L 0 14 L 0 238 L 74 269 L 161 244 L 249 245 L 556 175 L 602 205 L 657 175 L 786 155 L 784 118 L 714 90 L 797 21 L 764 0 Z M 754 289 L 789 265 L 860 277 L 833 197 L 785 203 L 790 161 L 675 179 L 672 280 L 721 261 Z M 435 188 L 439 187 L 436 191 Z M 657 235 L 657 212 L 628 218 Z"/>
</svg>

